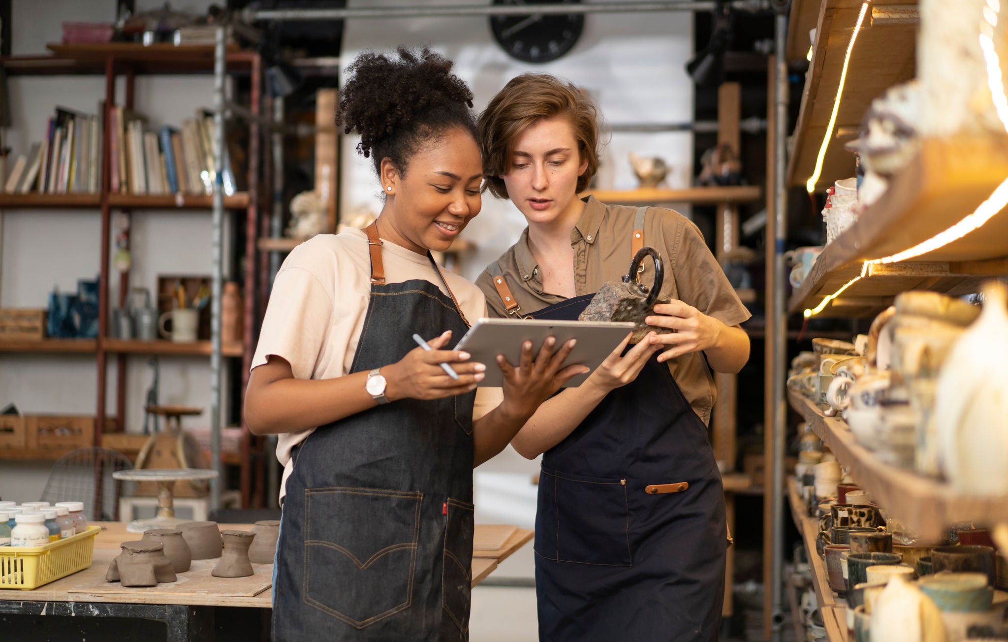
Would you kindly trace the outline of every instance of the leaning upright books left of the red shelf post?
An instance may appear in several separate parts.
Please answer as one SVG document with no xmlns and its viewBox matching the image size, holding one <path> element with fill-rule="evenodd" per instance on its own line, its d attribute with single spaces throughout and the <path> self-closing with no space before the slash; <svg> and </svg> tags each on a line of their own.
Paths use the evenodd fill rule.
<svg viewBox="0 0 1008 642">
<path fill-rule="evenodd" d="M 104 113 L 99 104 L 98 113 Z M 45 139 L 32 143 L 14 161 L 4 183 L 7 194 L 97 194 L 102 186 L 102 119 L 56 107 Z"/>
</svg>

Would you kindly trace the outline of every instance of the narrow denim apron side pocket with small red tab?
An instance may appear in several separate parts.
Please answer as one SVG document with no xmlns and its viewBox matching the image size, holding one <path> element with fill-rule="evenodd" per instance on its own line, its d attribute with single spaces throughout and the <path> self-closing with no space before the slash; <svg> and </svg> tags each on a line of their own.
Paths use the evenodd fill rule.
<svg viewBox="0 0 1008 642">
<path fill-rule="evenodd" d="M 465 635 L 469 631 L 470 594 L 473 585 L 473 505 L 448 500 L 445 525 L 445 560 L 442 595 L 445 611 Z"/>
</svg>

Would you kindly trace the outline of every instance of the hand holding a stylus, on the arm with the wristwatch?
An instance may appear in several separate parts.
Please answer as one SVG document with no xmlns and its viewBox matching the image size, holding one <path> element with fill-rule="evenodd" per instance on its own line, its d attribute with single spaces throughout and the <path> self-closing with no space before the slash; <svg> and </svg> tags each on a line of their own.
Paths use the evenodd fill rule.
<svg viewBox="0 0 1008 642">
<path fill-rule="evenodd" d="M 442 350 L 452 339 L 452 331 L 427 341 L 433 350 L 414 348 L 396 363 L 379 370 L 385 377 L 385 398 L 444 399 L 476 389 L 483 380 L 486 366 L 469 361 L 469 353 Z M 453 379 L 440 364 L 447 363 L 459 375 Z"/>
</svg>

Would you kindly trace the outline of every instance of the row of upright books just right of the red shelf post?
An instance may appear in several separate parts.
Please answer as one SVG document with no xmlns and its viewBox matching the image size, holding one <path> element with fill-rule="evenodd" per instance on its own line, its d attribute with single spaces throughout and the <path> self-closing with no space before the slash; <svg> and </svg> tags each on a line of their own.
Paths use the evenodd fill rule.
<svg viewBox="0 0 1008 642">
<path fill-rule="evenodd" d="M 146 119 L 116 105 L 111 114 L 109 150 L 113 194 L 212 195 L 215 170 L 213 115 L 199 110 L 181 128 L 162 125 L 156 132 Z M 224 151 L 224 194 L 235 194 L 234 172 Z"/>
</svg>

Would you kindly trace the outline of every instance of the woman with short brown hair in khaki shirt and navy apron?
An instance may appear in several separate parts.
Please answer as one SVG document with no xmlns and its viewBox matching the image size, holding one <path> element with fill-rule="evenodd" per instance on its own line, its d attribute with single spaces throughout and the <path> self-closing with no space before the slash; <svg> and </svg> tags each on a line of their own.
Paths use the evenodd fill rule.
<svg viewBox="0 0 1008 642">
<path fill-rule="evenodd" d="M 551 76 L 524 75 L 479 120 L 494 196 L 528 222 L 477 280 L 498 316 L 578 318 L 642 247 L 663 260 L 650 333 L 546 401 L 512 444 L 542 455 L 535 523 L 539 639 L 717 640 L 727 528 L 707 437 L 710 368 L 738 372 L 749 312 L 697 227 L 661 208 L 579 199 L 598 168 L 597 109 Z M 636 274 L 629 275 L 638 276 Z M 650 284 L 647 262 L 641 282 Z"/>
</svg>

